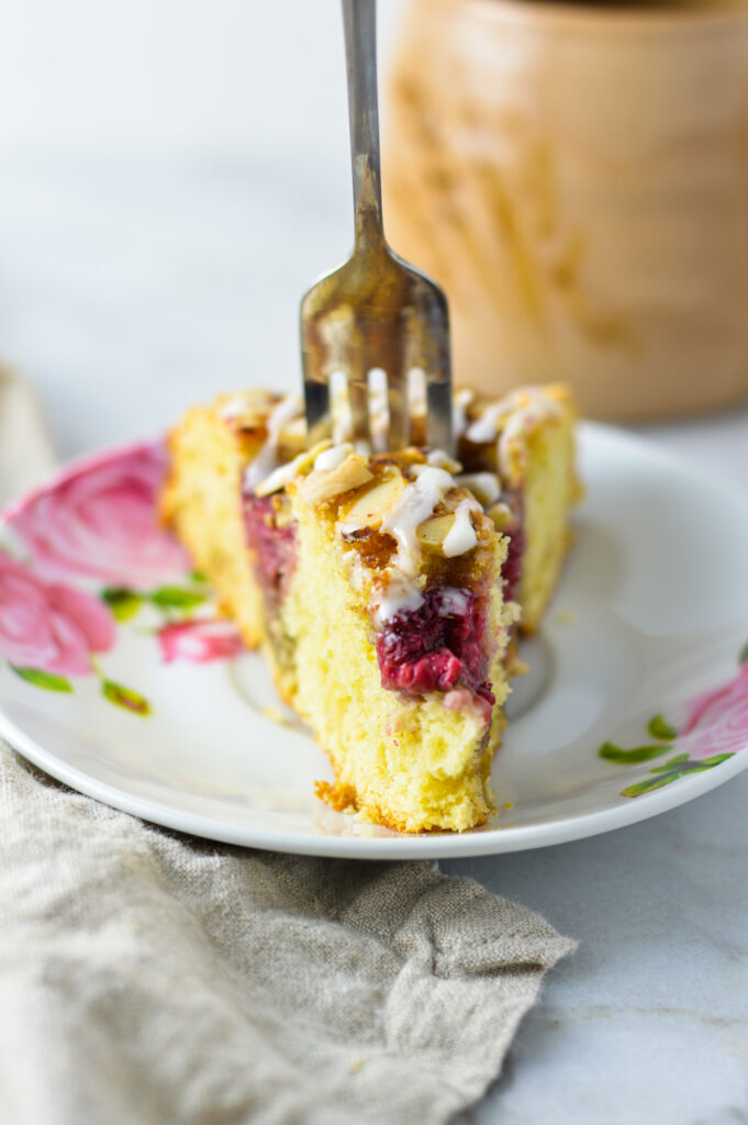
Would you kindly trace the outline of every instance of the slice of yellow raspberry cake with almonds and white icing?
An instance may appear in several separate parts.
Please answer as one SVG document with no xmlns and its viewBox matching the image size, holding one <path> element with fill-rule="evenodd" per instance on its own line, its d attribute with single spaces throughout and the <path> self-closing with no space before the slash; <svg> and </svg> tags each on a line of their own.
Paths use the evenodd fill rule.
<svg viewBox="0 0 748 1125">
<path fill-rule="evenodd" d="M 405 831 L 471 828 L 493 809 L 520 614 L 506 592 L 532 598 L 537 624 L 555 582 L 540 567 L 558 570 L 566 542 L 571 411 L 560 390 L 548 400 L 543 421 L 537 403 L 530 417 L 524 400 L 463 394 L 467 475 L 439 451 L 307 451 L 300 403 L 258 392 L 171 434 L 164 516 L 330 755 L 337 781 L 319 792 L 335 807 Z M 559 470 L 551 557 L 533 537 Z"/>
</svg>

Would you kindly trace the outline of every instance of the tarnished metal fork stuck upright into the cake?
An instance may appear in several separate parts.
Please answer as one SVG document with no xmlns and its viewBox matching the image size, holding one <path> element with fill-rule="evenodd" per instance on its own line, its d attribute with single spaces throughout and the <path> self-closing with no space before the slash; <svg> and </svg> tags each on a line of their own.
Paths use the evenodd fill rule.
<svg viewBox="0 0 748 1125">
<path fill-rule="evenodd" d="M 449 315 L 443 290 L 385 241 L 377 114 L 376 0 L 342 0 L 353 169 L 355 241 L 350 259 L 301 300 L 301 363 L 309 446 L 334 434 L 337 395 L 348 385 L 351 436 L 367 448 L 403 449 L 412 434 L 413 387 L 425 381 L 425 438 L 451 452 Z M 381 424 L 371 372 L 386 374 Z M 413 372 L 423 372 L 414 377 Z M 344 390 L 343 390 L 344 394 Z M 422 390 L 423 395 L 423 390 Z M 379 425 L 375 414 L 379 414 Z M 423 422 L 423 418 L 422 418 Z"/>
</svg>

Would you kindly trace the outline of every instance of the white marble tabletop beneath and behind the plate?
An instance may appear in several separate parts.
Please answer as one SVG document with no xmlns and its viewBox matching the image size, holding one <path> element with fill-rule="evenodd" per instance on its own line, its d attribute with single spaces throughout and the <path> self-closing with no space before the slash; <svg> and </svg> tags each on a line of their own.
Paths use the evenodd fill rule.
<svg viewBox="0 0 748 1125">
<path fill-rule="evenodd" d="M 62 457 L 217 389 L 295 385 L 299 294 L 348 249 L 335 172 L 0 159 L 0 351 Z M 651 436 L 748 489 L 748 410 Z M 466 1122 L 748 1122 L 748 774 L 607 836 L 445 868 L 580 942 Z"/>
</svg>

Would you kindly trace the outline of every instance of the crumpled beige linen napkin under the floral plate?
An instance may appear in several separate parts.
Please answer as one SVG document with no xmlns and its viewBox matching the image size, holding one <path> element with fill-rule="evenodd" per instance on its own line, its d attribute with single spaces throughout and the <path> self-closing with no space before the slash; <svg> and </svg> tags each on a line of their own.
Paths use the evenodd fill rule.
<svg viewBox="0 0 748 1125">
<path fill-rule="evenodd" d="M 9 441 L 6 494 L 48 453 L 27 389 L 4 376 Z M 497 1077 L 573 948 L 431 864 L 180 836 L 0 746 L 8 1125 L 445 1122 Z"/>
</svg>

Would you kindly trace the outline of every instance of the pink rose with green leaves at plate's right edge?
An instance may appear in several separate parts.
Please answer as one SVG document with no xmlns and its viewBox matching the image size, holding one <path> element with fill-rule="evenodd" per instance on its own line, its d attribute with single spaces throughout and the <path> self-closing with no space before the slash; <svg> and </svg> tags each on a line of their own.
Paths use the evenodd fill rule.
<svg viewBox="0 0 748 1125">
<path fill-rule="evenodd" d="M 667 755 L 647 776 L 621 791 L 622 796 L 641 796 L 691 773 L 703 773 L 739 754 L 748 746 L 748 654 L 740 654 L 740 670 L 727 684 L 702 692 L 685 704 L 681 729 L 661 714 L 650 719 L 647 730 L 654 742 L 623 749 L 604 742 L 600 757 L 618 765 L 639 765 Z"/>
</svg>

